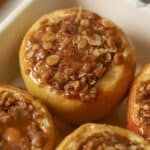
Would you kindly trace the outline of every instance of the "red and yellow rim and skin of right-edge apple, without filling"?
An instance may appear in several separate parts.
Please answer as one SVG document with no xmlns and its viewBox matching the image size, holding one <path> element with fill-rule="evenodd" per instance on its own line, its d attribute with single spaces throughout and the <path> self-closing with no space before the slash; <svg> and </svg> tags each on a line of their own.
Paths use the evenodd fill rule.
<svg viewBox="0 0 150 150">
<path fill-rule="evenodd" d="M 137 90 L 142 81 L 150 80 L 150 64 L 147 64 L 136 76 L 129 92 L 127 103 L 127 128 L 135 133 L 150 138 L 150 127 L 140 123 L 140 103 L 137 103 Z"/>
</svg>

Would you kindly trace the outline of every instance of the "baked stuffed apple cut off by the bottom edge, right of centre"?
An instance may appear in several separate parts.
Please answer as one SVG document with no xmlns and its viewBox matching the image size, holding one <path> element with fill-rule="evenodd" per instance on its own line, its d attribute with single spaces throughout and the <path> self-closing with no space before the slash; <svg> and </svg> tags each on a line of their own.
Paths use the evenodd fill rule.
<svg viewBox="0 0 150 150">
<path fill-rule="evenodd" d="M 119 127 L 85 124 L 68 135 L 56 150 L 149 150 L 150 144 Z"/>
</svg>

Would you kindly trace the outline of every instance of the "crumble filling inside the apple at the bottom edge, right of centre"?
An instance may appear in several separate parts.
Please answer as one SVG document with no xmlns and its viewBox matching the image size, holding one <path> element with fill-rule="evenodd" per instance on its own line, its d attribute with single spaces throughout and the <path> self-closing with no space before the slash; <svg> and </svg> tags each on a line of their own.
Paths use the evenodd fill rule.
<svg viewBox="0 0 150 150">
<path fill-rule="evenodd" d="M 144 150 L 144 146 L 126 137 L 105 131 L 92 135 L 80 143 L 78 150 Z"/>
</svg>

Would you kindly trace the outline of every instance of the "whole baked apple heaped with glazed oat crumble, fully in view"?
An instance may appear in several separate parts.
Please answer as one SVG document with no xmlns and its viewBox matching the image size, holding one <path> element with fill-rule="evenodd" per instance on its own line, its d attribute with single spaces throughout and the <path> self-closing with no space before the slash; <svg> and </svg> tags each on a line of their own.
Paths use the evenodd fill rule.
<svg viewBox="0 0 150 150">
<path fill-rule="evenodd" d="M 29 29 L 20 48 L 27 89 L 73 123 L 108 115 L 135 68 L 133 48 L 110 20 L 82 8 L 56 10 Z"/>
</svg>

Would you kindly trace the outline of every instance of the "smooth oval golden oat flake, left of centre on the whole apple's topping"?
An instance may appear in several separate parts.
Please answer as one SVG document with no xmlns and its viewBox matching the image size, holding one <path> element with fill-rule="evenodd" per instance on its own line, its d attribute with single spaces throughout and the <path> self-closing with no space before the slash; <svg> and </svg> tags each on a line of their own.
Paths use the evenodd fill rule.
<svg viewBox="0 0 150 150">
<path fill-rule="evenodd" d="M 60 60 L 60 57 L 58 55 L 50 55 L 46 58 L 46 63 L 49 66 L 53 66 L 53 65 L 58 64 L 59 60 Z"/>
</svg>

